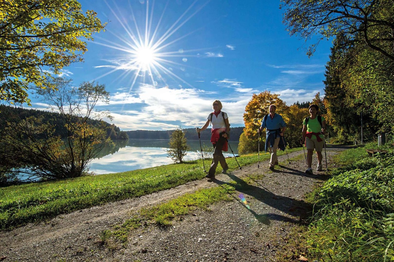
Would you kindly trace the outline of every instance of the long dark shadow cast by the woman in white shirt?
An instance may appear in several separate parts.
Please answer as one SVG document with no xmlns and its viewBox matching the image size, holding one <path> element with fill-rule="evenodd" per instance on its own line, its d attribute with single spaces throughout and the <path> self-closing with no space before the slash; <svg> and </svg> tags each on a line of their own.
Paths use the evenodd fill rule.
<svg viewBox="0 0 394 262">
<path fill-rule="evenodd" d="M 306 214 L 312 211 L 313 208 L 312 204 L 306 203 L 303 200 L 296 200 L 286 196 L 276 195 L 266 188 L 260 188 L 254 185 L 249 185 L 241 178 L 238 178 L 237 176 L 234 176 L 233 174 L 230 173 L 228 173 L 227 176 L 229 176 L 229 178 L 231 178 L 233 181 L 236 182 L 235 185 L 236 191 L 247 194 L 255 198 L 256 200 L 265 203 L 266 205 L 269 205 L 279 211 L 282 211 L 283 213 L 289 214 L 291 216 L 299 217 L 299 220 L 296 220 L 293 218 L 289 218 L 287 216 L 282 216 L 280 214 L 273 214 L 273 213 L 258 214 L 256 213 L 256 211 L 251 209 L 249 205 L 245 205 L 240 198 L 237 198 L 236 196 L 232 196 L 235 200 L 242 203 L 242 206 L 245 209 L 247 209 L 249 212 L 251 212 L 253 216 L 255 216 L 256 220 L 258 220 L 262 224 L 269 225 L 271 223 L 271 220 L 280 220 L 280 221 L 300 224 L 303 222 L 302 220 L 306 216 Z M 218 185 L 227 184 L 234 186 L 229 182 L 225 182 L 217 179 L 212 180 L 212 182 Z"/>
</svg>

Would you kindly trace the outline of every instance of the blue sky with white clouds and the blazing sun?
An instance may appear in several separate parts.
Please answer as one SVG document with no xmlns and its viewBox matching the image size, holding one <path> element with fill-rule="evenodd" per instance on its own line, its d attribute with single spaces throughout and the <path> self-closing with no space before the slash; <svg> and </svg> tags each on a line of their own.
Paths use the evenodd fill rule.
<svg viewBox="0 0 394 262">
<path fill-rule="evenodd" d="M 80 3 L 108 25 L 88 43 L 85 61 L 61 75 L 75 85 L 105 84 L 110 104 L 98 109 L 110 110 L 121 130 L 202 126 L 215 99 L 231 126 L 244 126 L 253 93 L 278 93 L 288 105 L 323 95 L 331 41 L 308 58 L 304 40 L 290 37 L 282 24 L 280 1 Z M 45 104 L 33 101 L 33 107 Z"/>
</svg>

